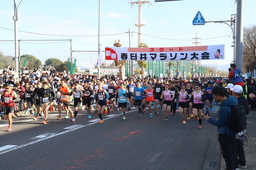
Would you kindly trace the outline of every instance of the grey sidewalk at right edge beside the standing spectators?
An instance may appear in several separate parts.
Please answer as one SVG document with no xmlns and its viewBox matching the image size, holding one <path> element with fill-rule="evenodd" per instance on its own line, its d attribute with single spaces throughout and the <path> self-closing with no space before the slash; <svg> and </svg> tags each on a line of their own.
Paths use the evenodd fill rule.
<svg viewBox="0 0 256 170">
<path fill-rule="evenodd" d="M 247 117 L 248 146 L 244 150 L 248 170 L 256 170 L 256 111 L 249 111 Z M 247 144 L 245 141 L 244 144 Z M 245 168 L 239 168 L 245 169 Z M 221 158 L 220 170 L 225 170 L 225 161 Z"/>
</svg>

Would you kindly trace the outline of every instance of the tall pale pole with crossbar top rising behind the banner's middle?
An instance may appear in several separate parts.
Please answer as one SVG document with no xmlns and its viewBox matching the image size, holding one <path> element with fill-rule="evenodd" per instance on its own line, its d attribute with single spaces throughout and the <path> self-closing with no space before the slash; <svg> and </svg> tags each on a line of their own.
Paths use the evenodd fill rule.
<svg viewBox="0 0 256 170">
<path fill-rule="evenodd" d="M 138 45 L 142 43 L 142 26 L 145 26 L 145 23 L 142 23 L 142 5 L 145 3 L 151 3 L 150 1 L 138 0 L 138 2 L 130 2 L 131 5 L 138 4 L 138 23 L 135 26 L 138 26 Z"/>
</svg>

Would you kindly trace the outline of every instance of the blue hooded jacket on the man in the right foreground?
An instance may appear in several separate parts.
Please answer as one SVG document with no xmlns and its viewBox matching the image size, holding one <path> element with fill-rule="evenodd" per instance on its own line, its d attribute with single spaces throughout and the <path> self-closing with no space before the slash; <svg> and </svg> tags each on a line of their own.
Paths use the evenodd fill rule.
<svg viewBox="0 0 256 170">
<path fill-rule="evenodd" d="M 218 118 L 214 120 L 210 118 L 208 122 L 212 125 L 218 126 L 219 134 L 235 135 L 230 129 L 228 124 L 231 120 L 231 107 L 238 104 L 237 98 L 229 96 L 227 99 L 220 104 L 220 110 L 218 111 Z"/>
</svg>

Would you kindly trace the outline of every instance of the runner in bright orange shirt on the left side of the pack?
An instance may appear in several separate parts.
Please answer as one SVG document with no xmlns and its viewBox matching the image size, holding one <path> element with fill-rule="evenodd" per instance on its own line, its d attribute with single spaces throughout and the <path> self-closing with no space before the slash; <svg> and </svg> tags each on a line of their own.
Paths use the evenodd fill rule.
<svg viewBox="0 0 256 170">
<path fill-rule="evenodd" d="M 59 116 L 57 117 L 57 120 L 61 119 L 61 110 L 62 110 L 62 106 L 64 106 L 65 108 L 65 118 L 68 119 L 68 113 L 70 111 L 70 117 L 73 117 L 73 111 L 70 108 L 70 88 L 67 86 L 67 83 L 65 81 L 65 78 L 62 78 L 60 80 L 60 102 L 59 102 L 59 106 L 58 106 L 58 113 Z"/>
</svg>

